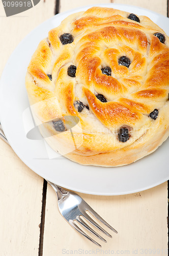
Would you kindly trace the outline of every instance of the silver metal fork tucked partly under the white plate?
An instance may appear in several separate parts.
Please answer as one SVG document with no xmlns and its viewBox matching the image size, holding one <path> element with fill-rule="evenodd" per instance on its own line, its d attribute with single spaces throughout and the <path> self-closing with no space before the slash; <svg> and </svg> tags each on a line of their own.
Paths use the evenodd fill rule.
<svg viewBox="0 0 169 256">
<path fill-rule="evenodd" d="M 0 123 L 0 138 L 2 138 L 5 142 L 8 142 L 7 138 L 5 137 L 5 134 L 3 132 L 1 123 Z M 85 218 L 85 220 L 89 221 L 93 226 L 98 228 L 99 231 L 101 231 L 103 234 L 108 236 L 109 238 L 112 238 L 111 235 L 104 230 L 98 223 L 96 223 L 87 213 L 89 211 L 93 216 L 95 216 L 99 221 L 101 221 L 106 227 L 110 228 L 115 233 L 118 233 L 116 229 L 111 227 L 105 220 L 103 220 L 96 211 L 94 211 L 89 204 L 87 204 L 80 196 L 73 193 L 72 191 L 68 191 L 63 189 L 62 187 L 47 181 L 54 191 L 57 193 L 58 196 L 58 207 L 62 214 L 62 216 L 65 218 L 65 220 L 73 227 L 75 228 L 80 234 L 85 236 L 87 239 L 92 241 L 94 244 L 101 247 L 99 243 L 97 243 L 93 238 L 88 236 L 87 233 L 85 233 L 76 223 L 78 222 L 79 225 L 81 225 L 83 228 L 91 232 L 95 237 L 100 239 L 103 242 L 106 242 L 104 238 L 100 236 L 93 228 L 91 228 L 82 218 Z M 82 218 L 81 218 L 82 217 Z"/>
</svg>

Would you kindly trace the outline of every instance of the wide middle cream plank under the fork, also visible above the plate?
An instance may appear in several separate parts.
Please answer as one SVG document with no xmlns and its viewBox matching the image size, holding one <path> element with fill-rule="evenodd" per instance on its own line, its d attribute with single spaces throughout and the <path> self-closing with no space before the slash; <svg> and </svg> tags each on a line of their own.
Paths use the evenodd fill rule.
<svg viewBox="0 0 169 256">
<path fill-rule="evenodd" d="M 104 3 L 132 5 L 132 0 L 104 1 Z M 62 0 L 60 11 L 99 4 L 98 0 Z M 166 1 L 135 0 L 134 5 L 163 15 L 167 12 Z M 62 254 L 130 254 L 167 255 L 167 182 L 131 195 L 93 196 L 78 193 L 119 233 L 102 243 L 102 251 L 78 234 L 61 216 L 57 196 L 48 186 L 44 229 L 43 256 Z M 108 230 L 107 230 L 108 231 Z M 105 238 L 105 237 L 104 237 Z M 98 251 L 96 251 L 96 249 Z"/>
</svg>

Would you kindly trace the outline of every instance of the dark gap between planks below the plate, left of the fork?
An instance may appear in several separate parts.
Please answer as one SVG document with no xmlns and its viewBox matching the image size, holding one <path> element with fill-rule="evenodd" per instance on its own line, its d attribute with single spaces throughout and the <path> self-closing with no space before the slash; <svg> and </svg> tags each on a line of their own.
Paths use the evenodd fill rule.
<svg viewBox="0 0 169 256">
<path fill-rule="evenodd" d="M 43 191 L 42 191 L 42 211 L 41 211 L 41 223 L 40 223 L 40 236 L 39 236 L 39 253 L 38 256 L 43 255 L 43 234 L 45 226 L 45 208 L 46 208 L 46 191 L 47 181 L 43 180 Z"/>
</svg>

